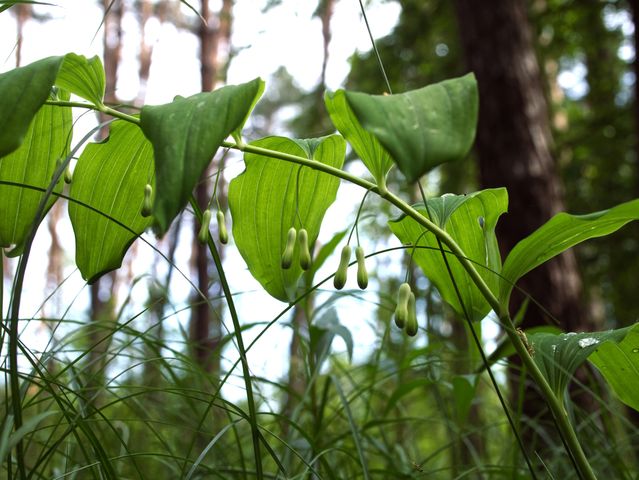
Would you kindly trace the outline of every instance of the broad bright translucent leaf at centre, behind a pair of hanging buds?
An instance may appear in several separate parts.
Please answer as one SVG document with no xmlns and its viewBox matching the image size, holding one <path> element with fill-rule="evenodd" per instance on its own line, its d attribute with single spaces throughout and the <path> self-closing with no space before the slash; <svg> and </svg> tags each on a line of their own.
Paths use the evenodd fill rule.
<svg viewBox="0 0 639 480">
<path fill-rule="evenodd" d="M 336 168 L 341 168 L 346 149 L 344 139 L 337 135 L 312 140 L 267 137 L 251 145 L 313 158 Z M 253 276 L 273 297 L 289 302 L 295 298 L 303 272 L 297 246 L 291 268 L 281 268 L 287 232 L 292 226 L 304 227 L 313 245 L 324 213 L 335 200 L 339 180 L 261 155 L 247 153 L 244 161 L 246 170 L 229 185 L 233 237 Z"/>
</svg>

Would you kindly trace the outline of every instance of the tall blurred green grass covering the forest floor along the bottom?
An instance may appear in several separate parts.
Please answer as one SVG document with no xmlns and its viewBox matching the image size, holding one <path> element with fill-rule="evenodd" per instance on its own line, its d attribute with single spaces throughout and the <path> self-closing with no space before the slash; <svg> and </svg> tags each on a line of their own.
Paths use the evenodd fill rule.
<svg viewBox="0 0 639 480">
<path fill-rule="evenodd" d="M 415 343 L 393 330 L 392 309 L 381 298 L 379 318 L 369 320 L 377 340 L 364 361 L 350 362 L 343 352 L 322 355 L 303 335 L 301 395 L 286 378 L 251 375 L 261 476 L 529 478 L 486 375 L 475 384 L 473 372 L 461 371 L 468 350 L 437 328 L 447 320 L 431 318 L 428 341 Z M 2 364 L 1 476 L 19 478 L 11 448 L 21 437 L 27 478 L 256 478 L 248 405 L 222 393 L 226 383 L 246 380 L 241 369 L 211 375 L 193 360 L 185 332 L 154 334 L 174 315 L 157 319 L 151 303 L 117 322 L 42 320 L 51 332 L 44 351 L 20 344 L 21 365 L 31 367 L 19 373 L 23 426 L 15 433 L 6 389 L 13 372 Z M 267 328 L 248 325 L 244 333 Z M 99 331 L 99 345 L 89 343 L 96 338 L 91 329 Z M 212 353 L 234 360 L 232 341 L 227 333 Z M 90 355 L 96 350 L 97 357 Z M 508 390 L 503 380 L 502 388 Z M 605 389 L 581 388 L 596 408 L 575 406 L 571 414 L 593 467 L 633 478 L 636 429 Z M 294 409 L 283 415 L 291 398 Z M 535 468 L 540 477 L 570 478 L 561 440 L 541 413 L 517 418 L 544 439 L 530 446 Z"/>
</svg>

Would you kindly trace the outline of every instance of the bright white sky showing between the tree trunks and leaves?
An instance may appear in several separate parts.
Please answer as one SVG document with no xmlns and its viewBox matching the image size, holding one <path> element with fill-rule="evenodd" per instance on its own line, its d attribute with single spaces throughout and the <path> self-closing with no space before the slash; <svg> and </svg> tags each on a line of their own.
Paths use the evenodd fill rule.
<svg viewBox="0 0 639 480">
<path fill-rule="evenodd" d="M 50 55 L 64 55 L 68 52 L 83 54 L 85 56 L 101 55 L 102 32 L 99 30 L 102 19 L 102 11 L 97 2 L 87 0 L 57 0 L 57 6 L 36 6 L 35 11 L 41 15 L 47 15 L 49 19 L 44 22 L 28 21 L 24 27 L 24 44 L 22 50 L 22 63 L 32 61 Z M 237 0 L 234 6 L 234 23 L 232 44 L 239 47 L 238 55 L 233 59 L 228 72 L 228 83 L 241 83 L 256 76 L 267 81 L 268 91 L 269 76 L 281 65 L 285 66 L 293 76 L 297 84 L 304 89 L 314 87 L 319 79 L 322 64 L 322 36 L 321 23 L 318 18 L 313 18 L 316 2 L 300 2 L 297 0 L 284 0 L 278 7 L 272 8 L 268 13 L 262 13 L 264 1 Z M 213 11 L 219 9 L 219 3 L 211 2 Z M 336 4 L 336 10 L 332 19 L 332 41 L 327 66 L 327 87 L 340 88 L 348 73 L 348 58 L 355 51 L 367 51 L 370 49 L 370 38 L 362 21 L 359 2 L 357 0 L 341 0 Z M 193 16 L 192 12 L 183 8 L 185 15 Z M 395 2 L 371 2 L 367 7 L 367 13 L 373 35 L 381 37 L 390 32 L 396 23 L 399 7 Z M 198 43 L 194 35 L 176 28 L 170 22 L 160 24 L 157 20 L 150 21 L 144 31 L 131 13 L 123 18 L 123 51 L 122 62 L 119 70 L 117 95 L 123 101 L 133 100 L 139 90 L 137 76 L 137 48 L 139 36 L 144 34 L 148 42 L 154 45 L 153 63 L 148 85 L 146 87 L 146 104 L 161 104 L 170 102 L 175 95 L 188 96 L 199 92 L 199 61 Z M 0 72 L 10 70 L 15 66 L 15 19 L 12 15 L 4 13 L 0 15 Z M 79 113 L 79 112 L 78 112 Z M 91 115 L 85 115 L 77 124 L 78 133 L 75 138 L 81 138 L 83 133 L 95 125 L 95 119 Z M 355 166 L 355 171 L 364 174 L 363 168 Z M 359 168 L 359 170 L 358 170 Z M 239 157 L 231 162 L 229 178 L 239 174 L 243 169 Z M 362 191 L 356 187 L 342 185 L 338 200 L 326 214 L 326 221 L 320 234 L 320 242 L 325 242 L 333 232 L 344 228 L 346 224 L 352 224 L 354 212 L 338 207 L 344 202 L 349 202 L 355 208 Z M 188 229 L 185 229 L 187 231 Z M 50 243 L 50 237 L 43 225 L 36 237 L 34 251 L 27 271 L 29 279 L 22 304 L 22 316 L 27 318 L 39 318 L 42 315 L 51 314 L 53 302 L 65 310 L 67 318 L 86 318 L 88 307 L 88 289 L 73 262 L 73 233 L 68 219 L 63 218 L 58 226 L 58 233 L 63 239 L 66 249 L 64 275 L 67 280 L 61 288 L 55 292 L 52 299 L 47 300 L 45 279 L 42 275 L 43 265 L 46 265 L 46 252 Z M 152 243 L 152 236 L 147 237 Z M 178 249 L 177 264 L 181 270 L 188 272 L 190 251 L 190 238 L 185 233 L 181 239 L 182 248 Z M 376 245 L 369 241 L 364 243 L 367 251 L 371 251 Z M 235 292 L 243 292 L 238 297 L 240 316 L 245 323 L 263 322 L 270 320 L 279 313 L 285 305 L 273 300 L 266 294 L 259 284 L 252 279 L 246 269 L 243 260 L 237 250 L 228 248 L 227 274 L 231 288 Z M 135 275 L 144 275 L 149 271 L 150 263 L 154 256 L 145 245 L 137 248 L 137 257 L 132 265 Z M 327 266 L 320 271 L 318 278 L 332 273 L 337 259 L 329 260 Z M 335 264 L 335 265 L 333 265 Z M 389 274 L 401 274 L 401 256 L 385 259 L 385 265 Z M 370 266 L 370 268 L 373 268 Z M 158 265 L 158 273 L 166 269 L 166 265 Z M 347 288 L 353 287 L 355 272 L 350 274 L 350 282 Z M 172 300 L 176 308 L 186 305 L 191 291 L 188 282 L 179 275 L 174 276 L 172 286 Z M 377 334 L 372 330 L 371 315 L 366 315 L 367 309 L 362 310 L 362 305 L 368 305 L 368 311 L 373 308 L 377 299 L 375 285 L 371 284 L 367 292 L 363 294 L 364 301 L 345 297 L 340 300 L 339 310 L 342 318 L 350 319 L 348 327 L 351 329 L 355 344 L 355 361 L 361 360 L 368 352 L 369 345 L 375 341 Z M 122 299 L 128 293 L 130 285 L 124 285 L 119 292 Z M 147 298 L 146 282 L 138 282 L 131 288 L 134 305 L 131 315 L 139 310 L 140 305 Z M 332 286 L 331 286 L 332 288 Z M 5 292 L 7 294 L 8 292 Z M 330 295 L 330 292 L 326 294 Z M 242 298 L 250 297 L 249 301 L 242 302 Z M 6 305 L 6 303 L 5 303 Z M 259 305 L 259 309 L 251 307 Z M 137 309 L 137 310 L 136 310 Z M 188 312 L 176 314 L 167 320 L 169 329 L 178 332 L 179 326 L 185 328 L 188 322 Z M 230 325 L 230 322 L 226 322 Z M 48 332 L 40 322 L 25 323 L 23 339 L 28 339 L 28 345 L 34 350 L 42 349 L 48 342 Z M 254 328 L 245 334 L 245 342 L 259 333 L 260 328 Z M 62 333 L 62 332 L 61 332 Z M 267 375 L 270 378 L 278 378 L 285 374 L 287 369 L 287 352 L 290 341 L 290 329 L 280 322 L 271 328 L 256 348 L 249 354 L 252 372 L 256 375 Z M 334 347 L 344 350 L 344 344 L 336 340 Z M 274 355 L 277 352 L 277 355 Z M 226 349 L 228 360 L 225 366 L 230 366 L 236 355 L 230 349 Z M 238 375 L 240 373 L 238 372 Z M 227 388 L 224 393 L 230 397 L 242 397 L 241 378 L 231 379 L 231 383 L 237 383 L 237 389 Z"/>
</svg>

